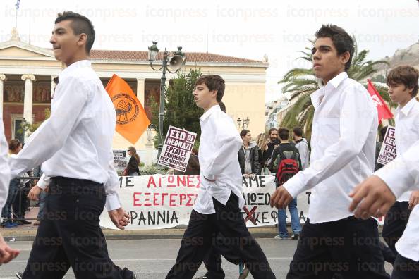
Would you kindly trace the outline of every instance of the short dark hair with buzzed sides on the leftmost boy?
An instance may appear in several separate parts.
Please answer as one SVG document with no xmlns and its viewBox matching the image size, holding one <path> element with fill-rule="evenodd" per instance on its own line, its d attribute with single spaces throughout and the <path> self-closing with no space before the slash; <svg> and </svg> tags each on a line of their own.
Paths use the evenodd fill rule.
<svg viewBox="0 0 419 279">
<path fill-rule="evenodd" d="M 61 23 L 63 20 L 71 20 L 71 28 L 75 35 L 85 33 L 87 35 L 86 41 L 86 52 L 90 54 L 93 43 L 95 42 L 95 28 L 89 18 L 80 15 L 80 13 L 74 13 L 72 11 L 64 11 L 56 16 L 55 24 Z"/>
</svg>

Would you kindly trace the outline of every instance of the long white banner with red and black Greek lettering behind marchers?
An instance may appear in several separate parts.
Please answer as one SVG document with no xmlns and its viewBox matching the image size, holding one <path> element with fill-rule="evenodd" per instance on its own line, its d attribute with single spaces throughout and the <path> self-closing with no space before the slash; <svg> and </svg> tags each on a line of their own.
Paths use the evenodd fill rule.
<svg viewBox="0 0 419 279">
<path fill-rule="evenodd" d="M 190 212 L 200 188 L 199 175 L 147 175 L 119 178 L 119 200 L 131 217 L 128 230 L 173 228 L 188 225 Z M 269 206 L 275 190 L 273 175 L 243 178 L 245 206 L 242 213 L 248 227 L 276 225 L 278 211 Z M 308 213 L 308 196 L 298 196 L 300 223 Z M 288 218 L 289 220 L 289 218 Z M 116 228 L 106 212 L 100 225 Z"/>
</svg>

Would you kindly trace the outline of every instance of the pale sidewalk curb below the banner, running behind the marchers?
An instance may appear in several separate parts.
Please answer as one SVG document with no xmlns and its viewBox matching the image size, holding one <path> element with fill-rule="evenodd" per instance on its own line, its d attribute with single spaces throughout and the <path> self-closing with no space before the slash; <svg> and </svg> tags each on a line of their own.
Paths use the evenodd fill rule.
<svg viewBox="0 0 419 279">
<path fill-rule="evenodd" d="M 249 228 L 253 237 L 269 238 L 278 234 L 275 227 L 269 228 Z M 180 239 L 185 232 L 184 228 L 168 228 L 157 230 L 109 230 L 103 229 L 107 240 L 147 240 L 147 239 Z M 33 241 L 37 230 L 4 230 L 0 229 L 6 241 Z M 14 239 L 14 240 L 13 240 Z"/>
</svg>

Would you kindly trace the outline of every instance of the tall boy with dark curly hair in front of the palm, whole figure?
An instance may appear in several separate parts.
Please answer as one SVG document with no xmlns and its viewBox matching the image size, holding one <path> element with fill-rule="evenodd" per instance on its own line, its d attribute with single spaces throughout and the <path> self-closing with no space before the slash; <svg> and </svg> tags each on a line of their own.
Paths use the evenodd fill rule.
<svg viewBox="0 0 419 279">
<path fill-rule="evenodd" d="M 353 39 L 336 25 L 315 34 L 312 63 L 324 87 L 311 95 L 315 114 L 311 163 L 272 194 L 284 208 L 312 189 L 308 221 L 286 278 L 389 278 L 379 249 L 377 221 L 358 220 L 348 210 L 348 193 L 372 174 L 377 109 L 363 85 L 348 78 Z M 368 240 L 368 242 L 365 242 Z"/>
</svg>

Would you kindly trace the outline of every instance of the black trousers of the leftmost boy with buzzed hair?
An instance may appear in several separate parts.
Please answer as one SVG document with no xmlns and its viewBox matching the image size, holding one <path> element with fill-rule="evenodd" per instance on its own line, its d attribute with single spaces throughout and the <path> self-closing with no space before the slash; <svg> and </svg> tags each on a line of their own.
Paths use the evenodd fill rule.
<svg viewBox="0 0 419 279">
<path fill-rule="evenodd" d="M 23 278 L 61 279 L 70 267 L 78 279 L 133 278 L 109 259 L 99 226 L 105 201 L 102 184 L 53 178 Z"/>
</svg>

